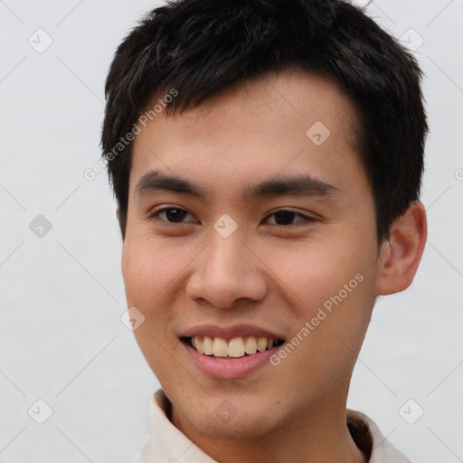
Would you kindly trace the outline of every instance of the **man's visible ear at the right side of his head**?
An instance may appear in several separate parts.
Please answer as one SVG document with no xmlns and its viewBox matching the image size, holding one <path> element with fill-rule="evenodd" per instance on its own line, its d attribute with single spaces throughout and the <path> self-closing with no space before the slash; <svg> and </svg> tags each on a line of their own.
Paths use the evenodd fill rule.
<svg viewBox="0 0 463 463">
<path fill-rule="evenodd" d="M 428 236 L 426 210 L 414 201 L 406 213 L 392 223 L 389 239 L 380 249 L 376 294 L 398 293 L 415 277 Z"/>
</svg>

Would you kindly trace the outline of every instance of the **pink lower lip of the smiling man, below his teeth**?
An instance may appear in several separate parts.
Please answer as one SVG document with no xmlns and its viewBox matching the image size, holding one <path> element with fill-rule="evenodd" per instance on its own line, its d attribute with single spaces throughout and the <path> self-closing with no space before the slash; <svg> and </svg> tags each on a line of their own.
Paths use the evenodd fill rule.
<svg viewBox="0 0 463 463">
<path fill-rule="evenodd" d="M 275 354 L 279 346 L 273 347 L 267 351 L 257 352 L 256 354 L 245 355 L 236 359 L 223 359 L 208 357 L 200 354 L 191 345 L 180 341 L 186 352 L 190 355 L 196 366 L 203 373 L 213 378 L 233 379 L 242 378 L 252 372 L 255 372 L 265 364 L 269 364 L 269 358 Z"/>
</svg>

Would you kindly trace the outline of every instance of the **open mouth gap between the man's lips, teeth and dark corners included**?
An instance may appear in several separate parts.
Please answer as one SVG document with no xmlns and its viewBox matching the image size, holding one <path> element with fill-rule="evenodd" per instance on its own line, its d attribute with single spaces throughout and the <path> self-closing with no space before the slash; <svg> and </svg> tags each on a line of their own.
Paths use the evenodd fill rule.
<svg viewBox="0 0 463 463">
<path fill-rule="evenodd" d="M 252 335 L 233 337 L 228 341 L 207 335 L 182 336 L 180 340 L 205 357 L 225 360 L 249 357 L 285 343 L 284 339 Z"/>
</svg>

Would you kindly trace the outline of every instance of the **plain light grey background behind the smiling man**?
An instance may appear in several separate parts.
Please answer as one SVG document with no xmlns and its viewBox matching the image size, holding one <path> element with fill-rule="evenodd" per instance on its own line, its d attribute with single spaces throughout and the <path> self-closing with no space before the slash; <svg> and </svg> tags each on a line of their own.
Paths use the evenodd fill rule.
<svg viewBox="0 0 463 463">
<path fill-rule="evenodd" d="M 115 203 L 106 173 L 89 182 L 83 171 L 100 156 L 109 62 L 156 5 L 0 1 L 2 463 L 127 463 L 149 432 L 158 383 L 120 320 Z M 463 461 L 463 0 L 376 0 L 367 11 L 409 46 L 424 41 L 429 241 L 411 288 L 373 311 L 348 406 L 412 461 L 454 463 Z M 28 43 L 46 43 L 38 28 L 53 41 L 43 53 Z M 52 223 L 42 238 L 29 228 L 38 214 Z M 43 418 L 39 399 L 52 408 L 43 424 L 28 414 Z"/>
</svg>

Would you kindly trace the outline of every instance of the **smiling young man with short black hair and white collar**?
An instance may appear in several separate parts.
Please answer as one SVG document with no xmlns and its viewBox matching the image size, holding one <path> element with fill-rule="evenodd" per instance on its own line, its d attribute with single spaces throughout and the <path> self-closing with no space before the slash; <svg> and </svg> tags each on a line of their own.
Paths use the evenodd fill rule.
<svg viewBox="0 0 463 463">
<path fill-rule="evenodd" d="M 106 96 L 162 386 L 137 461 L 409 461 L 346 397 L 375 299 L 426 241 L 416 61 L 340 0 L 175 1 L 118 47 Z"/>
</svg>

